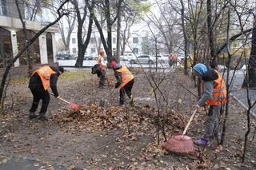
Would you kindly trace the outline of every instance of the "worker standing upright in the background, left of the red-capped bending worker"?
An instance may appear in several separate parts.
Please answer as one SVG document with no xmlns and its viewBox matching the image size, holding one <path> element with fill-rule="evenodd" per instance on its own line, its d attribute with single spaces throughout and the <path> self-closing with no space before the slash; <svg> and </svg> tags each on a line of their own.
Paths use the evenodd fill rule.
<svg viewBox="0 0 256 170">
<path fill-rule="evenodd" d="M 102 74 L 99 79 L 98 88 L 104 89 L 105 88 L 105 80 L 106 80 L 106 61 L 104 60 L 104 51 L 100 51 L 98 55 L 97 63 L 99 65 L 99 69 L 102 71 Z"/>
</svg>

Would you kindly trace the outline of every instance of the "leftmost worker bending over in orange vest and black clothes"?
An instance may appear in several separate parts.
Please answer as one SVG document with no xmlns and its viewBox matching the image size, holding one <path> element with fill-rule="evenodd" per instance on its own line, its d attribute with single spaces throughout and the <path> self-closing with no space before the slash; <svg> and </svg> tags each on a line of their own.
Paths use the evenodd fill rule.
<svg viewBox="0 0 256 170">
<path fill-rule="evenodd" d="M 38 117 L 35 114 L 36 109 L 38 109 L 38 104 L 40 99 L 42 99 L 42 108 L 39 112 L 38 119 L 41 121 L 47 121 L 50 117 L 46 116 L 46 111 L 50 102 L 50 95 L 48 93 L 48 88 L 54 93 L 54 97 L 58 97 L 57 81 L 58 77 L 64 72 L 62 66 L 48 66 L 44 65 L 41 69 L 34 71 L 30 77 L 29 88 L 33 94 L 33 103 L 30 109 L 29 118 L 33 119 Z"/>
</svg>

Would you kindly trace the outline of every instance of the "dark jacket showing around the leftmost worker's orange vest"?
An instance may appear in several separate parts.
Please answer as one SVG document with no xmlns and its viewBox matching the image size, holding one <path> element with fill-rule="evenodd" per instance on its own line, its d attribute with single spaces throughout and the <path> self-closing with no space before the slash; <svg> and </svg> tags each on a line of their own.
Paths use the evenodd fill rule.
<svg viewBox="0 0 256 170">
<path fill-rule="evenodd" d="M 58 97 L 58 89 L 57 89 L 57 81 L 60 75 L 60 71 L 58 67 L 50 66 L 50 69 L 54 70 L 54 72 L 50 75 L 50 89 L 54 93 L 55 97 Z M 30 77 L 30 89 L 43 89 L 41 78 L 39 77 L 38 73 L 34 73 L 33 76 Z"/>
</svg>

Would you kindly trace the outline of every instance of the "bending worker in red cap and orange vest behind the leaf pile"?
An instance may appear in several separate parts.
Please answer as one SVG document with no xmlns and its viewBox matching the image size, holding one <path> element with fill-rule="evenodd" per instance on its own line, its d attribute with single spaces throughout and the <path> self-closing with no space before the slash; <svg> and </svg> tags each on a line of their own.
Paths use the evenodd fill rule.
<svg viewBox="0 0 256 170">
<path fill-rule="evenodd" d="M 130 104 L 134 104 L 134 97 L 131 94 L 131 89 L 133 89 L 134 85 L 134 75 L 130 73 L 130 70 L 125 65 L 117 64 L 116 61 L 111 61 L 110 65 L 114 69 L 114 76 L 118 81 L 115 88 L 120 89 L 119 105 L 125 103 L 125 93 L 130 99 Z"/>
</svg>

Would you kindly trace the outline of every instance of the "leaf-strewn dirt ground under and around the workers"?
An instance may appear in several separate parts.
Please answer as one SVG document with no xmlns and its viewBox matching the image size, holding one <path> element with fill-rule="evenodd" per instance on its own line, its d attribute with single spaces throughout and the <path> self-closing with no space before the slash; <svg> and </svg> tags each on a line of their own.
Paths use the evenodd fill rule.
<svg viewBox="0 0 256 170">
<path fill-rule="evenodd" d="M 196 99 L 181 85 L 196 93 L 194 83 L 179 72 L 154 73 L 151 75 L 154 81 L 150 83 L 141 71 L 133 73 L 135 104 L 126 101 L 126 105 L 118 106 L 119 93 L 114 92 L 103 108 L 98 104 L 114 87 L 112 71 L 108 73 L 106 89 L 97 88 L 98 77 L 89 71 L 64 73 L 58 81 L 60 97 L 81 105 L 81 111 L 76 113 L 66 103 L 51 97 L 50 121 L 28 119 L 32 102 L 28 79 L 13 79 L 6 93 L 5 115 L 0 119 L 0 153 L 68 168 L 256 169 L 256 139 L 252 140 L 255 122 L 249 136 L 246 162 L 242 164 L 246 114 L 232 97 L 224 145 L 212 140 L 204 149 L 197 147 L 196 156 L 178 156 L 162 149 L 164 136 L 160 132 L 158 145 L 158 107 L 150 83 L 162 82 L 159 89 L 164 98 L 159 93 L 157 98 L 161 104 L 159 114 L 166 118 L 167 137 L 182 132 L 186 126 Z M 156 85 L 153 87 L 157 89 Z M 165 107 L 165 101 L 169 107 Z M 203 135 L 205 118 L 204 111 L 194 117 L 187 132 L 193 140 Z"/>
</svg>

